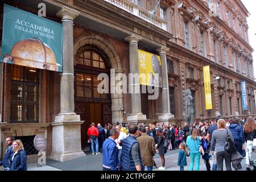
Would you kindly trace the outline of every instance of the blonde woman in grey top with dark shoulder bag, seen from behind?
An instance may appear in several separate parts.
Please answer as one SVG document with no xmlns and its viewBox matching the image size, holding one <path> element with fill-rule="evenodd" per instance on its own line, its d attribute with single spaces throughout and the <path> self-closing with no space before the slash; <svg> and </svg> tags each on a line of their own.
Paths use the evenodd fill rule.
<svg viewBox="0 0 256 182">
<path fill-rule="evenodd" d="M 232 171 L 231 168 L 231 152 L 225 151 L 226 138 L 230 137 L 234 142 L 233 135 L 229 129 L 226 129 L 226 122 L 224 119 L 219 119 L 217 122 L 218 129 L 212 133 L 212 140 L 210 142 L 210 150 L 213 154 L 216 152 L 217 171 L 223 171 L 223 160 L 225 159 L 226 170 Z M 215 145 L 215 149 L 213 151 Z"/>
</svg>

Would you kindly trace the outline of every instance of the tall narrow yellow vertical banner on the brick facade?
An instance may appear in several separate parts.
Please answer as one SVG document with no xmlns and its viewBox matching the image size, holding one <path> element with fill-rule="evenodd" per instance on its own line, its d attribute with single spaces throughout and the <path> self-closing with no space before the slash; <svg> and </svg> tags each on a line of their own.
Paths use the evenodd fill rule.
<svg viewBox="0 0 256 182">
<path fill-rule="evenodd" d="M 210 66 L 203 67 L 205 108 L 212 109 L 212 90 L 210 89 Z"/>
</svg>

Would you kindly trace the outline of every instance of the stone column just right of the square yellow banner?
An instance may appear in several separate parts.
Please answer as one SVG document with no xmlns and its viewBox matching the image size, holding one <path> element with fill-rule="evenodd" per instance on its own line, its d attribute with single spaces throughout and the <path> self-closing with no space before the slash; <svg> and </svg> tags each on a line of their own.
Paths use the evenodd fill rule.
<svg viewBox="0 0 256 182">
<path fill-rule="evenodd" d="M 161 89 L 162 95 L 162 114 L 158 115 L 158 119 L 161 121 L 168 121 L 169 118 L 174 118 L 174 115 L 170 113 L 170 98 L 169 98 L 169 83 L 167 73 L 167 60 L 166 52 L 169 51 L 167 47 L 161 47 L 158 49 L 161 64 L 162 64 L 162 80 L 163 88 Z"/>
</svg>

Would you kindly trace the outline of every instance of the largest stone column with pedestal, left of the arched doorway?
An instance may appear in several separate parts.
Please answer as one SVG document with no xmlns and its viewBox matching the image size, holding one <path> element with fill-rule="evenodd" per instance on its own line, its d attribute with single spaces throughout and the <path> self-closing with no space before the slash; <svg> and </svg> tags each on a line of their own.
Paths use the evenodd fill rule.
<svg viewBox="0 0 256 182">
<path fill-rule="evenodd" d="M 80 13 L 62 7 L 56 14 L 63 22 L 63 73 L 60 81 L 60 114 L 52 123 L 52 153 L 50 158 L 64 162 L 85 156 L 81 150 L 80 115 L 75 113 L 73 68 L 73 19 Z"/>
</svg>

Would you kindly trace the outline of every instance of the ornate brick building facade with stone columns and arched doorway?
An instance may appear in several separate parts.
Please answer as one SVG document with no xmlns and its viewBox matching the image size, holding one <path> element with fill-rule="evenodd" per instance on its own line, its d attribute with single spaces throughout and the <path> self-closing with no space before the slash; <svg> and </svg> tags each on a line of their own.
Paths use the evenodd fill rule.
<svg viewBox="0 0 256 182">
<path fill-rule="evenodd" d="M 37 14 L 40 1 L 6 3 Z M 32 74 L 30 68 L 0 64 L 1 142 L 8 135 L 24 142 L 42 134 L 47 139 L 47 156 L 60 161 L 77 158 L 84 155 L 81 148 L 91 122 L 184 122 L 186 89 L 194 98 L 194 121 L 219 114 L 227 118 L 255 115 L 254 50 L 247 35 L 249 12 L 241 1 L 163 0 L 156 9 L 155 0 L 45 3 L 46 18 L 63 23 L 63 75 L 42 69 L 32 69 Z M 2 35 L 3 3 L 0 10 Z M 97 94 L 99 73 L 106 73 L 110 80 L 110 69 L 127 77 L 138 73 L 137 48 L 161 57 L 164 85 L 158 99 L 147 100 L 148 94 L 143 93 Z M 212 110 L 205 109 L 205 65 L 210 65 Z M 30 76 L 36 81 L 24 82 Z M 33 102 L 23 98 L 22 103 L 32 103 L 33 111 L 16 108 L 14 92 L 21 96 L 13 80 L 18 77 L 23 85 L 34 86 Z M 242 110 L 242 80 L 249 110 Z M 4 151 L 1 146 L 0 156 Z M 31 150 L 31 161 L 35 154 Z"/>
</svg>

